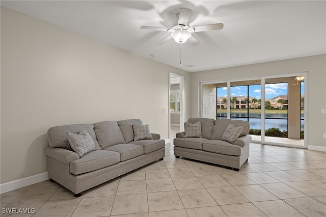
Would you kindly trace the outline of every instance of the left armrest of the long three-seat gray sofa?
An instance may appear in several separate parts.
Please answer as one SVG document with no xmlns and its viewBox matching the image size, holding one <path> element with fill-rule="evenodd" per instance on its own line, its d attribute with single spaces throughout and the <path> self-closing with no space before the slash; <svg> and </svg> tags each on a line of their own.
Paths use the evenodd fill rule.
<svg viewBox="0 0 326 217">
<path fill-rule="evenodd" d="M 44 153 L 46 156 L 55 158 L 64 164 L 70 164 L 70 161 L 79 159 L 75 152 L 64 148 L 51 148 L 48 146 L 44 149 Z"/>
</svg>

